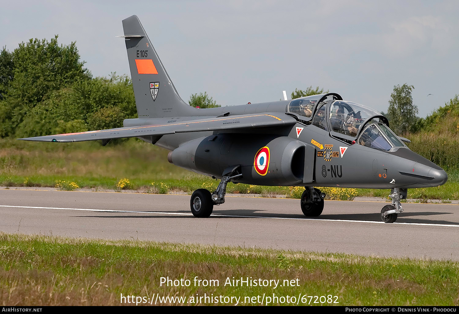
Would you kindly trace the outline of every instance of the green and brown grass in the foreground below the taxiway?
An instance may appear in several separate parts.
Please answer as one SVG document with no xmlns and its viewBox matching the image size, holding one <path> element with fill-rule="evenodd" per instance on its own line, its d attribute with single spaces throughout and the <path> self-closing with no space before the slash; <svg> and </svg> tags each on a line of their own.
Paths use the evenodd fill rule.
<svg viewBox="0 0 459 314">
<path fill-rule="evenodd" d="M 219 280 L 219 285 L 195 286 L 196 276 L 201 280 Z M 161 277 L 188 279 L 190 286 L 161 286 Z M 283 280 L 294 280 L 294 285 L 224 286 L 227 278 L 232 280 L 232 277 L 280 280 L 280 284 Z M 240 304 L 259 304 L 263 293 L 271 297 L 274 293 L 277 297 L 301 295 L 298 303 L 311 302 L 310 305 L 457 306 L 459 264 L 0 233 L 1 305 L 120 305 L 121 294 L 186 297 L 187 304 L 189 297 L 204 293 L 241 297 Z M 315 298 L 304 298 L 305 295 L 325 296 L 322 298 L 325 303 L 319 298 L 314 303 Z M 247 303 L 246 297 L 257 296 L 260 296 L 257 302 Z M 328 296 L 332 296 L 333 303 L 326 301 L 330 300 Z M 177 300 L 165 301 L 170 303 Z M 272 304 L 277 302 L 274 300 Z"/>
</svg>

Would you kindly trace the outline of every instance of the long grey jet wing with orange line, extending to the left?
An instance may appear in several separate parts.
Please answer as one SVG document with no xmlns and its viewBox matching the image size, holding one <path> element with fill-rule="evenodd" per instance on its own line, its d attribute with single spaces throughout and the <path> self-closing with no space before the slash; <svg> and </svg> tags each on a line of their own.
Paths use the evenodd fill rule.
<svg viewBox="0 0 459 314">
<path fill-rule="evenodd" d="M 280 116 L 280 117 L 278 117 Z M 26 137 L 18 140 L 39 142 L 82 142 L 86 140 L 111 140 L 125 137 L 165 135 L 183 132 L 218 131 L 227 129 L 270 128 L 293 125 L 295 118 L 274 113 L 250 113 L 221 118 L 206 118 L 179 123 L 153 124 L 117 129 L 86 131 L 78 133 Z"/>
</svg>

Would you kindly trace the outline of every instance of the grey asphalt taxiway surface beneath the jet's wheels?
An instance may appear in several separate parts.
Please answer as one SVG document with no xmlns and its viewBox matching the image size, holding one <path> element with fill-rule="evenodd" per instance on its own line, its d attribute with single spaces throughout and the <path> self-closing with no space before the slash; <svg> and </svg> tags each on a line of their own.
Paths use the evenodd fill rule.
<svg viewBox="0 0 459 314">
<path fill-rule="evenodd" d="M 190 196 L 0 190 L 0 230 L 101 239 L 139 239 L 459 260 L 459 205 L 403 203 L 394 224 L 384 202 L 325 201 L 318 218 L 299 200 L 226 197 L 194 218 Z"/>
</svg>

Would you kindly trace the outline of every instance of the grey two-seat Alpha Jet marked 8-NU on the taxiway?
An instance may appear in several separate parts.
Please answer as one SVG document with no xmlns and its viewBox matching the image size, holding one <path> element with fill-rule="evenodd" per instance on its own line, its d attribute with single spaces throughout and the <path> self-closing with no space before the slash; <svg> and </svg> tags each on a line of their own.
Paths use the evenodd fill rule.
<svg viewBox="0 0 459 314">
<path fill-rule="evenodd" d="M 221 180 L 190 200 L 196 217 L 225 202 L 226 185 L 304 186 L 301 209 L 319 216 L 325 194 L 313 186 L 391 189 L 381 219 L 403 212 L 408 188 L 442 185 L 446 172 L 411 151 L 379 112 L 336 93 L 199 109 L 183 101 L 139 19 L 123 20 L 138 118 L 123 128 L 24 138 L 79 142 L 138 137 L 169 150 L 169 162 Z"/>
</svg>

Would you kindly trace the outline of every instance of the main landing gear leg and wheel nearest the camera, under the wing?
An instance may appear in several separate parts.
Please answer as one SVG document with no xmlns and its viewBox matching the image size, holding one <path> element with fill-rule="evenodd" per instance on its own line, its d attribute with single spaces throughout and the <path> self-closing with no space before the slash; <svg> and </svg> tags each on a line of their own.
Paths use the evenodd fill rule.
<svg viewBox="0 0 459 314">
<path fill-rule="evenodd" d="M 239 165 L 226 168 L 223 177 L 213 193 L 206 189 L 198 189 L 191 194 L 191 213 L 198 218 L 207 218 L 213 211 L 213 205 L 220 205 L 225 202 L 226 185 L 231 179 L 239 178 Z"/>
</svg>

